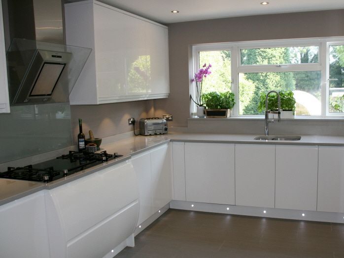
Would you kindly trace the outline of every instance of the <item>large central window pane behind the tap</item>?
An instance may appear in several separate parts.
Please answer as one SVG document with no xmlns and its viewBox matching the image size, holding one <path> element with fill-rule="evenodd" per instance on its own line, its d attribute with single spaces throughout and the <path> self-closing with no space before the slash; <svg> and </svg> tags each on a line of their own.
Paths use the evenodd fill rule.
<svg viewBox="0 0 344 258">
<path fill-rule="evenodd" d="M 263 115 L 258 111 L 260 94 L 292 90 L 295 115 L 321 115 L 321 72 L 239 73 L 239 115 Z"/>
</svg>

